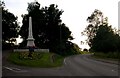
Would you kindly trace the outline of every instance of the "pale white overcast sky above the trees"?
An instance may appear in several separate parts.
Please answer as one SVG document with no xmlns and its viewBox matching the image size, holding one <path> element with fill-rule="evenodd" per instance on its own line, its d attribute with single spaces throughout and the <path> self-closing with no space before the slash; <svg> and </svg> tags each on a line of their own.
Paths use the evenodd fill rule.
<svg viewBox="0 0 120 78">
<path fill-rule="evenodd" d="M 18 16 L 18 21 L 22 25 L 21 14 L 27 13 L 28 2 L 34 0 L 4 0 L 8 11 Z M 118 28 L 118 1 L 119 0 L 37 0 L 42 7 L 50 4 L 57 4 L 59 9 L 64 12 L 61 15 L 62 22 L 72 31 L 77 43 L 81 48 L 88 48 L 87 45 L 81 45 L 81 41 L 85 41 L 86 37 L 81 36 L 81 32 L 88 25 L 86 19 L 95 10 L 101 10 L 108 22 L 113 28 Z"/>
</svg>

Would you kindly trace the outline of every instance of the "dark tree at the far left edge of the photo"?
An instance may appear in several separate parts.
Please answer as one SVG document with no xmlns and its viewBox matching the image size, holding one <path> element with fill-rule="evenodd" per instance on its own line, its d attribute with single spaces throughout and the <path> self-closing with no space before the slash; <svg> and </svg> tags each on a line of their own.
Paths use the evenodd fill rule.
<svg viewBox="0 0 120 78">
<path fill-rule="evenodd" d="M 4 44 L 16 41 L 19 25 L 17 17 L 4 8 L 5 3 L 0 1 L 0 5 L 2 6 L 2 43 L 3 47 L 5 47 Z"/>
</svg>

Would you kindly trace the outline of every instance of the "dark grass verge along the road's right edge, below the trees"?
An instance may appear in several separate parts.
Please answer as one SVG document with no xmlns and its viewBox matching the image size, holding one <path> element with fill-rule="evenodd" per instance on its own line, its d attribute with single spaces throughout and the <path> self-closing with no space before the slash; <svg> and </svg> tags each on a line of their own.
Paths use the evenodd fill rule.
<svg viewBox="0 0 120 78">
<path fill-rule="evenodd" d="M 120 59 L 120 54 L 118 52 L 95 52 L 92 57 L 118 61 Z"/>
</svg>

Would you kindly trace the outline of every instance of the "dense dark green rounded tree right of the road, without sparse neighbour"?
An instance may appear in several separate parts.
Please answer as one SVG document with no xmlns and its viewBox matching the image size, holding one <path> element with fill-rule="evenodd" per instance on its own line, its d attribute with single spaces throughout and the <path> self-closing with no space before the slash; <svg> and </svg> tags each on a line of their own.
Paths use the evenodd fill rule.
<svg viewBox="0 0 120 78">
<path fill-rule="evenodd" d="M 119 50 L 119 42 L 119 35 L 114 33 L 111 26 L 104 25 L 99 27 L 91 49 L 97 52 L 115 52 Z"/>
</svg>

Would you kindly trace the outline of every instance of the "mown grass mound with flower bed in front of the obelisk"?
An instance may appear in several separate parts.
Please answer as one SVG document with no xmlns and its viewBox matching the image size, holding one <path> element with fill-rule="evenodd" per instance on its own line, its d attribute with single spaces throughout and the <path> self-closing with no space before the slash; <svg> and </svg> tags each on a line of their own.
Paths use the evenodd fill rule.
<svg viewBox="0 0 120 78">
<path fill-rule="evenodd" d="M 8 57 L 8 61 L 21 66 L 28 67 L 58 67 L 62 66 L 64 57 L 54 53 L 32 53 L 32 58 L 28 57 L 28 52 L 13 52 Z"/>
</svg>

